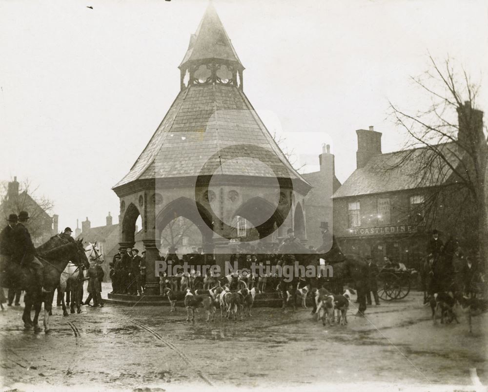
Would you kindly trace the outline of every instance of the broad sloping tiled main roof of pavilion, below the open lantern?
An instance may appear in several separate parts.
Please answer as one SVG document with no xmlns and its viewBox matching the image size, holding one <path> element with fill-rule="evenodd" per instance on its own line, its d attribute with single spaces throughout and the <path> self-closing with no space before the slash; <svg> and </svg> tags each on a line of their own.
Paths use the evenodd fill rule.
<svg viewBox="0 0 488 392">
<path fill-rule="evenodd" d="M 240 156 L 243 152 L 246 157 Z M 221 84 L 190 85 L 178 94 L 136 163 L 115 187 L 137 179 L 211 175 L 217 169 L 220 174 L 272 177 L 269 168 L 277 177 L 307 184 L 242 91 Z"/>
</svg>

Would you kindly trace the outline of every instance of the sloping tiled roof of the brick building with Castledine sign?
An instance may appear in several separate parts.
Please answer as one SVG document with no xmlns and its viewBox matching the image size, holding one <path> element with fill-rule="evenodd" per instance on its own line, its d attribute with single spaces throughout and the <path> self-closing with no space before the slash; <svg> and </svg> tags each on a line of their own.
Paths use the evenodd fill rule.
<svg viewBox="0 0 488 392">
<path fill-rule="evenodd" d="M 455 167 L 458 163 L 457 145 L 445 143 L 438 145 L 438 149 Z M 444 183 L 452 174 L 452 170 L 445 164 L 431 165 L 428 174 L 421 177 L 421 174 L 425 173 L 421 168 L 426 162 L 424 154 L 434 152 L 427 148 L 419 148 L 375 155 L 364 168 L 356 169 L 332 197 L 336 199 L 393 192 Z"/>
</svg>

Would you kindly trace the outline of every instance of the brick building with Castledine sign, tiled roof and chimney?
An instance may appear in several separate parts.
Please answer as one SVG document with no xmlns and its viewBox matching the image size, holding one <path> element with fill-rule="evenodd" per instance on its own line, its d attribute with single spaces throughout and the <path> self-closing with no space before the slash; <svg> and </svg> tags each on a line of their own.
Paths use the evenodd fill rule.
<svg viewBox="0 0 488 392">
<path fill-rule="evenodd" d="M 458 139 L 464 132 L 460 127 Z M 453 168 L 464 165 L 457 142 L 435 145 L 436 153 L 443 154 L 449 164 L 432 165 L 423 176 L 421 162 L 426 154 L 434 154 L 431 149 L 382 153 L 380 132 L 369 127 L 356 133 L 357 168 L 333 195 L 334 234 L 345 253 L 371 255 L 380 264 L 388 256 L 415 267 L 426 256 L 433 228 L 440 230 L 444 242 L 454 236 L 461 246 L 472 243 L 476 234 L 470 217 L 475 211 L 463 205 L 458 212 L 462 203 L 469 204 L 468 199 L 460 197 L 462 192 L 456 197 L 448 193 L 452 187 L 459 188 Z M 427 212 L 427 200 L 434 193 L 432 214 Z"/>
</svg>

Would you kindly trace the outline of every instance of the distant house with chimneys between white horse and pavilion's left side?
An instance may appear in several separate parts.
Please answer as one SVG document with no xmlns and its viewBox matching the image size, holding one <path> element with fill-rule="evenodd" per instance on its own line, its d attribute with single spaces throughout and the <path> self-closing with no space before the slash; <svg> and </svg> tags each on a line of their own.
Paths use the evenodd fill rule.
<svg viewBox="0 0 488 392">
<path fill-rule="evenodd" d="M 112 262 L 113 256 L 119 251 L 119 224 L 112 224 L 110 212 L 106 217 L 104 226 L 91 227 L 91 222 L 86 217 L 86 221 L 81 222 L 81 233 L 76 236 L 76 239 L 83 239 L 83 245 L 97 243 L 104 260 L 102 263 L 105 272 L 104 281 L 110 281 L 108 264 Z"/>
</svg>

